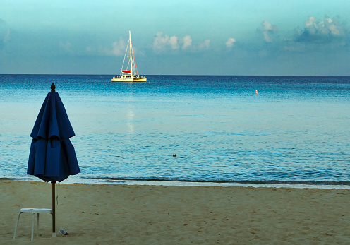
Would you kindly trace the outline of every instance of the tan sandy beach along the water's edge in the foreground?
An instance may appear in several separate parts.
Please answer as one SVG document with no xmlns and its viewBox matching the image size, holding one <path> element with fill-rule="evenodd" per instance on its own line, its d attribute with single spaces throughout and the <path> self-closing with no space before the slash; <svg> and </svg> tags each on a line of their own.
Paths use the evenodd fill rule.
<svg viewBox="0 0 350 245">
<path fill-rule="evenodd" d="M 0 181 L 0 244 L 350 244 L 350 189 L 56 184 L 56 227 L 20 208 L 51 208 L 51 184 Z"/>
</svg>

